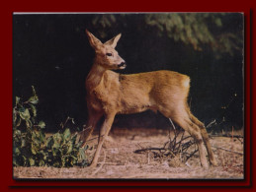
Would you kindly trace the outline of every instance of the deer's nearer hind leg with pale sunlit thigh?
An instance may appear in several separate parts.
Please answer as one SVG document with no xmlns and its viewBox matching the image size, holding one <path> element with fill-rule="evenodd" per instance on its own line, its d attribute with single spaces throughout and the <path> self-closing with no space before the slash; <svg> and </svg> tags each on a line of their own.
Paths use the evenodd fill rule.
<svg viewBox="0 0 256 192">
<path fill-rule="evenodd" d="M 171 118 L 175 123 L 177 123 L 195 139 L 199 147 L 201 164 L 203 167 L 208 168 L 209 164 L 206 157 L 206 151 L 204 149 L 204 142 L 200 128 L 189 118 L 187 111 L 179 108 L 172 112 L 166 110 L 160 112 L 162 112 L 162 114 L 167 118 Z"/>
</svg>

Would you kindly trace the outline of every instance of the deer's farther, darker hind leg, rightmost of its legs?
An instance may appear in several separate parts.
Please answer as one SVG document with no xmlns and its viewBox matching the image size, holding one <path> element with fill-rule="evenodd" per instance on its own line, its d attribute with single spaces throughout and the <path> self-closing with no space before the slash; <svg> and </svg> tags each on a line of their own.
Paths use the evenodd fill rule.
<svg viewBox="0 0 256 192">
<path fill-rule="evenodd" d="M 211 144 L 210 144 L 210 141 L 209 141 L 209 135 L 208 135 L 208 132 L 207 132 L 207 129 L 206 129 L 206 126 L 204 125 L 204 123 L 202 123 L 197 117 L 195 117 L 191 111 L 189 110 L 188 108 L 188 113 L 190 115 L 190 118 L 191 120 L 197 124 L 200 128 L 200 131 L 201 131 L 201 134 L 203 136 L 203 140 L 205 142 L 205 145 L 207 147 L 207 151 L 208 151 L 208 156 L 209 156 L 209 160 L 211 162 L 211 164 L 213 166 L 217 165 L 216 163 L 216 160 L 214 158 L 214 155 L 213 155 L 213 150 L 212 150 L 212 147 L 211 147 Z"/>
</svg>

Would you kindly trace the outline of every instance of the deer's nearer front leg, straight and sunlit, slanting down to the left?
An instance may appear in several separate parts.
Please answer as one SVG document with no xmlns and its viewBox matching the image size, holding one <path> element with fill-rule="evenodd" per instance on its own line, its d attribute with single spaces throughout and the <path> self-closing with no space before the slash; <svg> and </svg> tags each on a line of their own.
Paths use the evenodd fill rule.
<svg viewBox="0 0 256 192">
<path fill-rule="evenodd" d="M 93 161 L 90 164 L 90 167 L 95 167 L 97 165 L 97 162 L 98 162 L 98 159 L 99 159 L 99 156 L 100 156 L 100 153 L 101 153 L 102 145 L 103 145 L 105 139 L 109 135 L 109 132 L 111 130 L 114 118 L 115 118 L 115 113 L 114 114 L 107 114 L 106 117 L 105 117 L 105 121 L 104 121 L 104 123 L 101 127 L 101 130 L 100 130 L 98 146 L 97 146 Z"/>
</svg>

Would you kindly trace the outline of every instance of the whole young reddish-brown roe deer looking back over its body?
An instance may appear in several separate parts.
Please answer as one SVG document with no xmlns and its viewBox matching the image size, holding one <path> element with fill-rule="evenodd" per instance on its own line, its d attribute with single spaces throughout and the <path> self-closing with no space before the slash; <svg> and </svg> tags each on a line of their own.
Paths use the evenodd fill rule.
<svg viewBox="0 0 256 192">
<path fill-rule="evenodd" d="M 186 130 L 199 147 L 203 167 L 208 167 L 205 142 L 210 162 L 216 165 L 205 125 L 195 117 L 188 106 L 187 97 L 190 78 L 173 71 L 155 71 L 122 75 L 111 70 L 125 69 L 126 62 L 115 50 L 121 33 L 102 43 L 86 30 L 91 46 L 95 49 L 95 60 L 86 79 L 89 134 L 83 132 L 81 140 L 88 141 L 98 120 L 104 116 L 98 147 L 91 167 L 97 165 L 104 140 L 108 136 L 115 115 L 151 109 L 161 112 Z M 85 145 L 85 143 L 84 143 Z"/>
</svg>

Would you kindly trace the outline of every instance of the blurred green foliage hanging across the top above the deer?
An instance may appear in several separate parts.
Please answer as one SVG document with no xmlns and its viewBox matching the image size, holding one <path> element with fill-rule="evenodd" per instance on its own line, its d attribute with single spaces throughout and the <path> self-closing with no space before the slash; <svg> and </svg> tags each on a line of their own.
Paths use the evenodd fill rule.
<svg viewBox="0 0 256 192">
<path fill-rule="evenodd" d="M 216 56 L 221 53 L 233 55 L 243 46 L 243 26 L 229 27 L 230 21 L 239 20 L 239 14 L 231 13 L 162 13 L 162 14 L 101 14 L 96 15 L 92 25 L 106 37 L 111 28 L 133 27 L 141 32 L 155 32 L 167 36 L 195 50 L 210 47 Z M 241 14 L 240 14 L 241 15 Z M 134 17 L 135 16 L 135 17 Z M 236 21 L 239 23 L 239 21 Z"/>
</svg>

